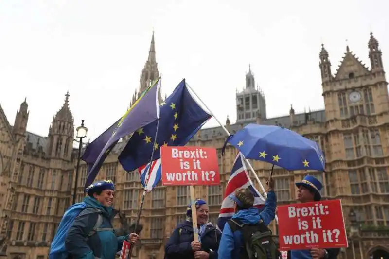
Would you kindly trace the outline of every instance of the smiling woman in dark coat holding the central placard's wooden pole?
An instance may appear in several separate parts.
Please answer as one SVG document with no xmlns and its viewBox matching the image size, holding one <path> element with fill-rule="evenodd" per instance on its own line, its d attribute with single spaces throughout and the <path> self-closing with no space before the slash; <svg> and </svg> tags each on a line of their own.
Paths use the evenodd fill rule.
<svg viewBox="0 0 389 259">
<path fill-rule="evenodd" d="M 194 241 L 192 208 L 186 210 L 186 221 L 173 231 L 165 246 L 165 259 L 217 259 L 221 233 L 208 222 L 209 208 L 197 199 L 196 217 L 199 241 Z"/>
</svg>

